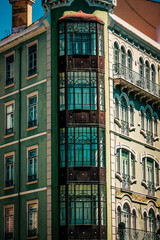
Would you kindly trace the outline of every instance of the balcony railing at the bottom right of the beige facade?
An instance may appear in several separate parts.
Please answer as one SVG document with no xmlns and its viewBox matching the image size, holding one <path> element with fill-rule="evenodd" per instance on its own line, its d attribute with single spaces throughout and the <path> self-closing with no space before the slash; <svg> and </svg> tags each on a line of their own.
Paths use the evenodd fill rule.
<svg viewBox="0 0 160 240">
<path fill-rule="evenodd" d="M 139 229 L 125 228 L 116 231 L 116 240 L 157 240 L 155 232 L 147 232 Z"/>
</svg>

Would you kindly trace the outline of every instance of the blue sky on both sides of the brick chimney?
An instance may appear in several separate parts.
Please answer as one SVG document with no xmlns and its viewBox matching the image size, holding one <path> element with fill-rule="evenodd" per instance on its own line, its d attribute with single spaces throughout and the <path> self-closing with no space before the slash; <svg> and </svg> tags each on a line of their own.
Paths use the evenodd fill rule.
<svg viewBox="0 0 160 240">
<path fill-rule="evenodd" d="M 11 34 L 12 30 L 12 5 L 9 0 L 0 0 L 0 40 Z M 36 0 L 32 5 L 32 21 L 35 22 L 37 19 L 44 15 L 44 10 L 41 6 L 41 0 Z"/>
</svg>

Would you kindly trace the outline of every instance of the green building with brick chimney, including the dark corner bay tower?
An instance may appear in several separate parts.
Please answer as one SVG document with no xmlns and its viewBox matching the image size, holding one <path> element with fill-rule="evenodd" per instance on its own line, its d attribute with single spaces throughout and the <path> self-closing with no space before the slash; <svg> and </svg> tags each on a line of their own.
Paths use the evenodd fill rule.
<svg viewBox="0 0 160 240">
<path fill-rule="evenodd" d="M 111 239 L 108 14 L 10 0 L 0 43 L 0 239 Z M 107 160 L 108 159 L 108 160 Z"/>
</svg>

